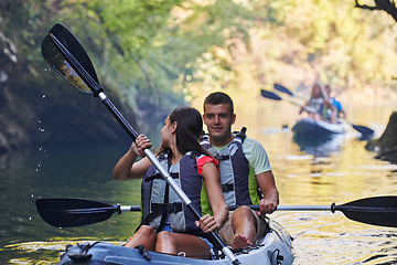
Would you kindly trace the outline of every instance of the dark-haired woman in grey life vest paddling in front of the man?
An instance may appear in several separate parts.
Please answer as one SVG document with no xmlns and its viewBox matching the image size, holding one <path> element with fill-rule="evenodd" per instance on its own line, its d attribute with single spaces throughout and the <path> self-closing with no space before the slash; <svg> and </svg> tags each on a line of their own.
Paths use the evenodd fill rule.
<svg viewBox="0 0 397 265">
<path fill-rule="evenodd" d="M 203 216 L 196 221 L 176 193 L 146 158 L 150 140 L 140 135 L 117 162 L 114 178 L 142 180 L 142 223 L 126 244 L 146 250 L 211 257 L 208 232 L 226 221 L 228 209 L 223 197 L 218 162 L 200 145 L 203 120 L 195 108 L 179 107 L 167 117 L 161 129 L 161 151 L 157 158 L 179 183 Z M 136 159 L 142 157 L 138 162 Z"/>
</svg>

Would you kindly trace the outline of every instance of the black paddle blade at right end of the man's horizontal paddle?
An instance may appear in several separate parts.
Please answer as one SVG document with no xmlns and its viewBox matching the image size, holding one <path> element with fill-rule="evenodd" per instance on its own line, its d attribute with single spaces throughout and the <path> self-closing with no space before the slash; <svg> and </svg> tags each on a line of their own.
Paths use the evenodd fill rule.
<svg viewBox="0 0 397 265">
<path fill-rule="evenodd" d="M 341 211 L 357 222 L 397 227 L 397 197 L 373 197 L 342 205 L 332 204 L 331 211 Z"/>
</svg>

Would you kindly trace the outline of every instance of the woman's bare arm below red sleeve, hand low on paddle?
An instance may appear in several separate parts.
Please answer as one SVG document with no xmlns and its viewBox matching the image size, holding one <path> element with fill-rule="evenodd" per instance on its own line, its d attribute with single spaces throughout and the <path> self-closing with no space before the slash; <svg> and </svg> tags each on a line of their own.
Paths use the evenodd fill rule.
<svg viewBox="0 0 397 265">
<path fill-rule="evenodd" d="M 212 232 L 219 229 L 226 221 L 228 208 L 221 187 L 221 173 L 213 162 L 207 162 L 203 166 L 202 177 L 204 179 L 205 189 L 208 194 L 211 208 L 214 216 L 210 214 L 200 219 L 200 227 L 204 232 Z"/>
</svg>

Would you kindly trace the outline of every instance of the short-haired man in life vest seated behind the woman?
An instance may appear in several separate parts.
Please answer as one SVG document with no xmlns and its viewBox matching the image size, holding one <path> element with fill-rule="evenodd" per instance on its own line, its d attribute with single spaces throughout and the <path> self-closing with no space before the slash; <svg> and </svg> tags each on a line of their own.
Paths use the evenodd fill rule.
<svg viewBox="0 0 397 265">
<path fill-rule="evenodd" d="M 236 120 L 232 98 L 222 92 L 204 100 L 204 124 L 208 135 L 201 144 L 219 161 L 222 190 L 228 205 L 259 204 L 260 211 L 239 206 L 219 230 L 221 239 L 232 248 L 256 245 L 266 232 L 265 214 L 279 203 L 270 162 L 264 147 L 240 132 L 232 132 Z"/>
</svg>

